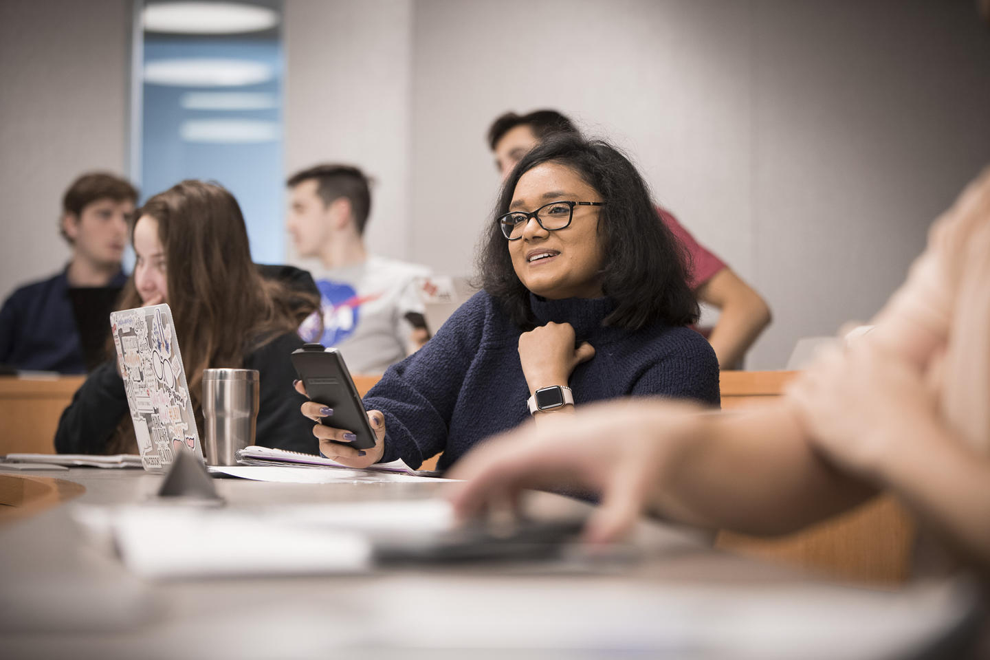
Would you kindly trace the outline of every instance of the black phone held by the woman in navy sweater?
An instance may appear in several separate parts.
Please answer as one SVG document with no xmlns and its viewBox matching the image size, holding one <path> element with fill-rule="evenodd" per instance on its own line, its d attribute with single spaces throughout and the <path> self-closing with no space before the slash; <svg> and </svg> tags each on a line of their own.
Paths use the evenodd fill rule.
<svg viewBox="0 0 990 660">
<path fill-rule="evenodd" d="M 357 436 L 353 442 L 337 443 L 355 449 L 373 447 L 375 434 L 371 424 L 368 424 L 364 404 L 350 378 L 341 351 L 326 348 L 322 343 L 307 343 L 302 348 L 293 350 L 291 357 L 292 366 L 306 386 L 306 394 L 310 400 L 334 409 L 334 414 L 323 418 L 320 423 L 345 428 Z"/>
</svg>

